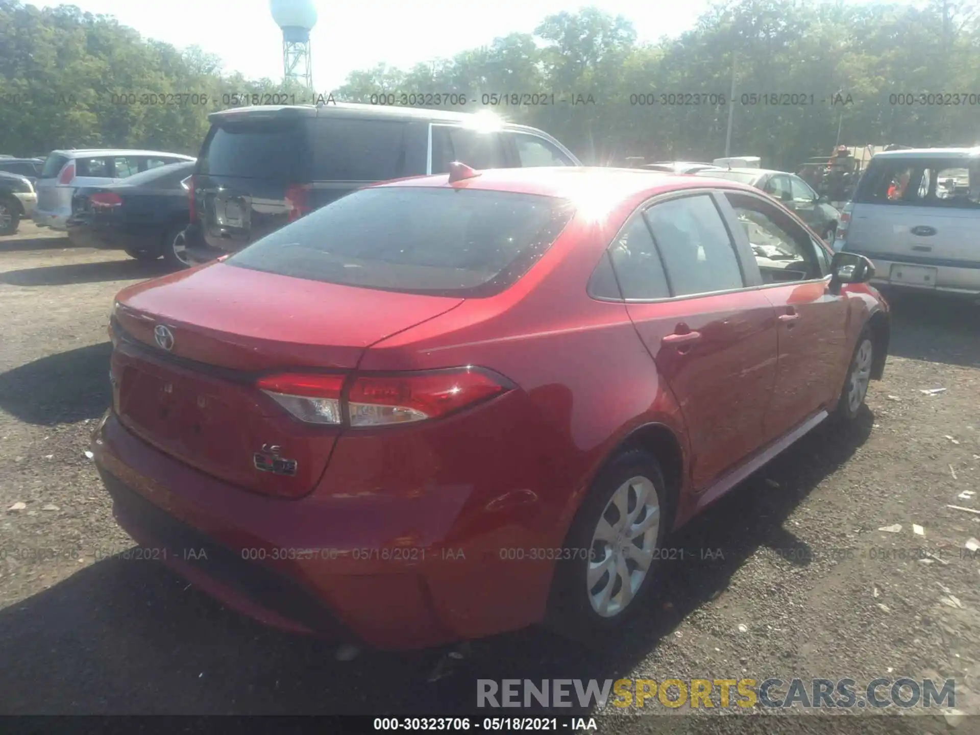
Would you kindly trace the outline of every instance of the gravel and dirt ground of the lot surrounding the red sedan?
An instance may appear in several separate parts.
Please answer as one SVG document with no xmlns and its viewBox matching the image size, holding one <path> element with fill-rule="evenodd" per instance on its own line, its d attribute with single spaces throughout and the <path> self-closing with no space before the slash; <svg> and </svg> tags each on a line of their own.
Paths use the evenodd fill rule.
<svg viewBox="0 0 980 735">
<path fill-rule="evenodd" d="M 980 712 L 980 559 L 961 553 L 980 515 L 947 507 L 980 509 L 957 498 L 980 491 L 980 309 L 898 301 L 869 410 L 819 427 L 684 530 L 673 546 L 720 554 L 670 563 L 657 604 L 619 638 L 595 650 L 540 630 L 478 641 L 430 682 L 445 652 L 336 662 L 332 647 L 226 612 L 159 564 L 96 559 L 131 545 L 84 456 L 110 400 L 107 316 L 120 288 L 162 272 L 30 223 L 0 238 L 0 712 L 465 712 L 476 678 L 851 677 L 861 691 L 904 675 L 954 677 L 957 709 Z M 728 732 L 736 718 L 664 719 Z M 800 716 L 783 731 L 829 732 L 828 719 L 840 724 Z M 865 732 L 950 727 L 859 719 Z"/>
</svg>

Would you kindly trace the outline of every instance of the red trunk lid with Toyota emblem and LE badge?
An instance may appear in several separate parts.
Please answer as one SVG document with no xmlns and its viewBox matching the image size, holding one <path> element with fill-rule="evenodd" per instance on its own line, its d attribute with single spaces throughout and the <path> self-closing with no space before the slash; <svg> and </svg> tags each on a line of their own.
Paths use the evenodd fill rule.
<svg viewBox="0 0 980 735">
<path fill-rule="evenodd" d="M 222 263 L 137 284 L 114 314 L 114 407 L 127 428 L 180 462 L 248 490 L 300 497 L 315 487 L 341 429 L 289 416 L 256 387 L 258 376 L 349 371 L 370 344 L 462 302 Z"/>
</svg>

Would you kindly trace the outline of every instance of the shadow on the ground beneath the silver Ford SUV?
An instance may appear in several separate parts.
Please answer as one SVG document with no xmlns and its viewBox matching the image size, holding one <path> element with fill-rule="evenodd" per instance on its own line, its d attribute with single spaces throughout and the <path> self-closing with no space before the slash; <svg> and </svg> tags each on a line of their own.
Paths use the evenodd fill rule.
<svg viewBox="0 0 980 735">
<path fill-rule="evenodd" d="M 886 298 L 892 307 L 890 355 L 980 368 L 980 304 L 934 293 Z"/>
</svg>

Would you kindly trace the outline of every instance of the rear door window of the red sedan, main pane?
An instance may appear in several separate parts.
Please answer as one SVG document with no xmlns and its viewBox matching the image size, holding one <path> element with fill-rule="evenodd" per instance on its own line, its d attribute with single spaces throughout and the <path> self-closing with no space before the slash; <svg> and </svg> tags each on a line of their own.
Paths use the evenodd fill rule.
<svg viewBox="0 0 980 735">
<path fill-rule="evenodd" d="M 673 199 L 646 212 L 674 296 L 742 288 L 728 229 L 711 196 Z"/>
</svg>

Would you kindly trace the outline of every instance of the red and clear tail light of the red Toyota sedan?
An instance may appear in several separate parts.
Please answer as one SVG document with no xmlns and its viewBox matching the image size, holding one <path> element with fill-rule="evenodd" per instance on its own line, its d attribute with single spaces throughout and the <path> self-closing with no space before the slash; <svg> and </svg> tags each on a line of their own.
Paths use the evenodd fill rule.
<svg viewBox="0 0 980 735">
<path fill-rule="evenodd" d="M 445 417 L 507 392 L 504 378 L 480 368 L 396 374 L 359 373 L 346 394 L 344 376 L 285 373 L 261 378 L 258 387 L 294 417 L 308 423 L 386 426 Z"/>
</svg>

